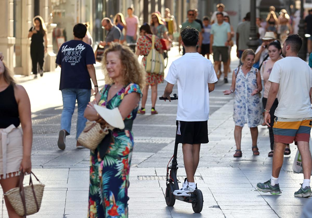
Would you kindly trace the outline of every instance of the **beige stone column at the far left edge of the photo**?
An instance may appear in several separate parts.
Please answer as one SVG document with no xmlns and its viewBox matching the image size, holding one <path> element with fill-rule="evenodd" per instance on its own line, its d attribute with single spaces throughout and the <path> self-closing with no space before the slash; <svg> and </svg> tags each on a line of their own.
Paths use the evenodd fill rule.
<svg viewBox="0 0 312 218">
<path fill-rule="evenodd" d="M 0 1 L 0 20 L 3 25 L 2 31 L 0 32 L 0 52 L 4 55 L 9 69 L 13 71 L 13 54 L 15 37 L 13 37 L 13 0 Z"/>
</svg>

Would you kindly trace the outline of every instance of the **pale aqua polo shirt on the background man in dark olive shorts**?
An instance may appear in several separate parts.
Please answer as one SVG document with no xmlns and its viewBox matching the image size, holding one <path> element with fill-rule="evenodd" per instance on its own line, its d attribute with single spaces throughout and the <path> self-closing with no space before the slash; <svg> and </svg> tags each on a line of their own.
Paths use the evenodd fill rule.
<svg viewBox="0 0 312 218">
<path fill-rule="evenodd" d="M 231 26 L 227 22 L 223 22 L 221 25 L 214 23 L 211 26 L 210 34 L 213 34 L 212 46 L 225 46 L 227 41 L 227 33 L 231 32 Z"/>
</svg>

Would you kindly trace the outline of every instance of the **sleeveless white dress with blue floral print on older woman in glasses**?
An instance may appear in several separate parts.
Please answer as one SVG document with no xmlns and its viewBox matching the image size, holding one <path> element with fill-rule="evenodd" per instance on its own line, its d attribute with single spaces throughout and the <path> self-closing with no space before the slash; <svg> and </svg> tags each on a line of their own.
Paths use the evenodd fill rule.
<svg viewBox="0 0 312 218">
<path fill-rule="evenodd" d="M 257 86 L 257 69 L 251 67 L 251 70 L 244 75 L 241 67 L 234 70 L 236 74 L 235 98 L 234 98 L 234 114 L 233 119 L 235 126 L 243 127 L 245 123 L 248 127 L 256 127 L 263 121 L 261 113 L 261 103 L 259 95 L 251 96 Z"/>
</svg>

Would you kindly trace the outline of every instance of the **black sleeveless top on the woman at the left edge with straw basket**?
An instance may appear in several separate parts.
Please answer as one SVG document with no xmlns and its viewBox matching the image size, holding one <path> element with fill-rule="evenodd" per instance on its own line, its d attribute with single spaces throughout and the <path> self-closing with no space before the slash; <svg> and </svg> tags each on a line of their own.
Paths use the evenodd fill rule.
<svg viewBox="0 0 312 218">
<path fill-rule="evenodd" d="M 20 125 L 18 105 L 14 96 L 14 88 L 9 85 L 0 92 L 0 129 L 7 128 L 11 124 Z"/>
</svg>

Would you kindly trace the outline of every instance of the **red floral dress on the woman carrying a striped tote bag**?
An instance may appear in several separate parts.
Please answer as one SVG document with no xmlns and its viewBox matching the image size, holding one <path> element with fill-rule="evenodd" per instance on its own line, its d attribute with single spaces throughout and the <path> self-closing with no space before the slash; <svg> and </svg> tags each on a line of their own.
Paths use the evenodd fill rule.
<svg viewBox="0 0 312 218">
<path fill-rule="evenodd" d="M 157 36 L 155 36 L 155 49 L 160 50 L 162 44 Z M 141 51 L 140 55 L 144 55 L 142 65 L 145 68 L 146 56 L 152 49 L 152 34 L 141 36 L 137 41 L 137 48 Z M 163 75 L 146 72 L 146 85 L 154 86 L 155 84 L 163 83 Z"/>
</svg>

